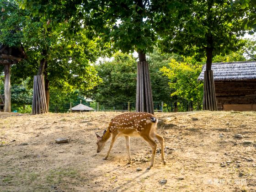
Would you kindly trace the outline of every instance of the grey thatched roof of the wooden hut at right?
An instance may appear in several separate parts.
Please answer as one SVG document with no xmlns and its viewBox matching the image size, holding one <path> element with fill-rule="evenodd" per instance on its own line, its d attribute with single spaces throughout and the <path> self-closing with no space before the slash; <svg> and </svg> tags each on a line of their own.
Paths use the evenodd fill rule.
<svg viewBox="0 0 256 192">
<path fill-rule="evenodd" d="M 197 80 L 203 80 L 206 65 Z M 213 63 L 214 80 L 256 80 L 256 61 Z"/>
</svg>

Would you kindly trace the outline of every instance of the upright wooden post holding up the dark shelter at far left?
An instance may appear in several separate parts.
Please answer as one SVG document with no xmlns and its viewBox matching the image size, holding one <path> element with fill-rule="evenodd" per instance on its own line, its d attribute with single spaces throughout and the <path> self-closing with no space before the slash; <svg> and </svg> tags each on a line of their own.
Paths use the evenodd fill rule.
<svg viewBox="0 0 256 192">
<path fill-rule="evenodd" d="M 11 112 L 11 64 L 5 64 L 5 112 Z"/>
</svg>

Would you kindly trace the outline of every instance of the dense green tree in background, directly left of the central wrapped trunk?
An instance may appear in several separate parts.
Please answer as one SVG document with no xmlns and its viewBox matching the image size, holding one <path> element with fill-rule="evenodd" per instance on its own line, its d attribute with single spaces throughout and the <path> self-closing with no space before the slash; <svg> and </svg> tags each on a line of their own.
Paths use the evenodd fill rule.
<svg viewBox="0 0 256 192">
<path fill-rule="evenodd" d="M 135 102 L 137 64 L 131 54 L 117 52 L 112 61 L 96 64 L 102 83 L 90 94 L 97 102 Z"/>
</svg>

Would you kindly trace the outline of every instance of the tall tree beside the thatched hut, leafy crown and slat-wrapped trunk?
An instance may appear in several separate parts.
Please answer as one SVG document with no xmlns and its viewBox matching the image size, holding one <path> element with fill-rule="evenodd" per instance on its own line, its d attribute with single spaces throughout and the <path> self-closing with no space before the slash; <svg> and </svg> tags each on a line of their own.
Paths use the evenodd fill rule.
<svg viewBox="0 0 256 192">
<path fill-rule="evenodd" d="M 211 70 L 212 58 L 239 48 L 238 37 L 245 33 L 243 19 L 248 14 L 247 0 L 179 1 L 173 6 L 159 5 L 163 12 L 155 16 L 154 28 L 161 35 L 164 51 L 206 57 L 204 109 L 217 110 Z M 163 27 L 164 26 L 164 27 Z"/>
</svg>

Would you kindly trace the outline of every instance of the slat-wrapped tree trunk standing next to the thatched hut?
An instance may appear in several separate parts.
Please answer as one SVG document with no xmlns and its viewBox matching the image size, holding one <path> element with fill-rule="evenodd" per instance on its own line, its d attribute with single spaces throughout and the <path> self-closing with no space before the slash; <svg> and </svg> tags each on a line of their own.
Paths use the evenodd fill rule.
<svg viewBox="0 0 256 192">
<path fill-rule="evenodd" d="M 203 110 L 217 111 L 215 87 L 213 80 L 213 48 L 206 48 L 206 70 L 204 71 Z"/>
</svg>

